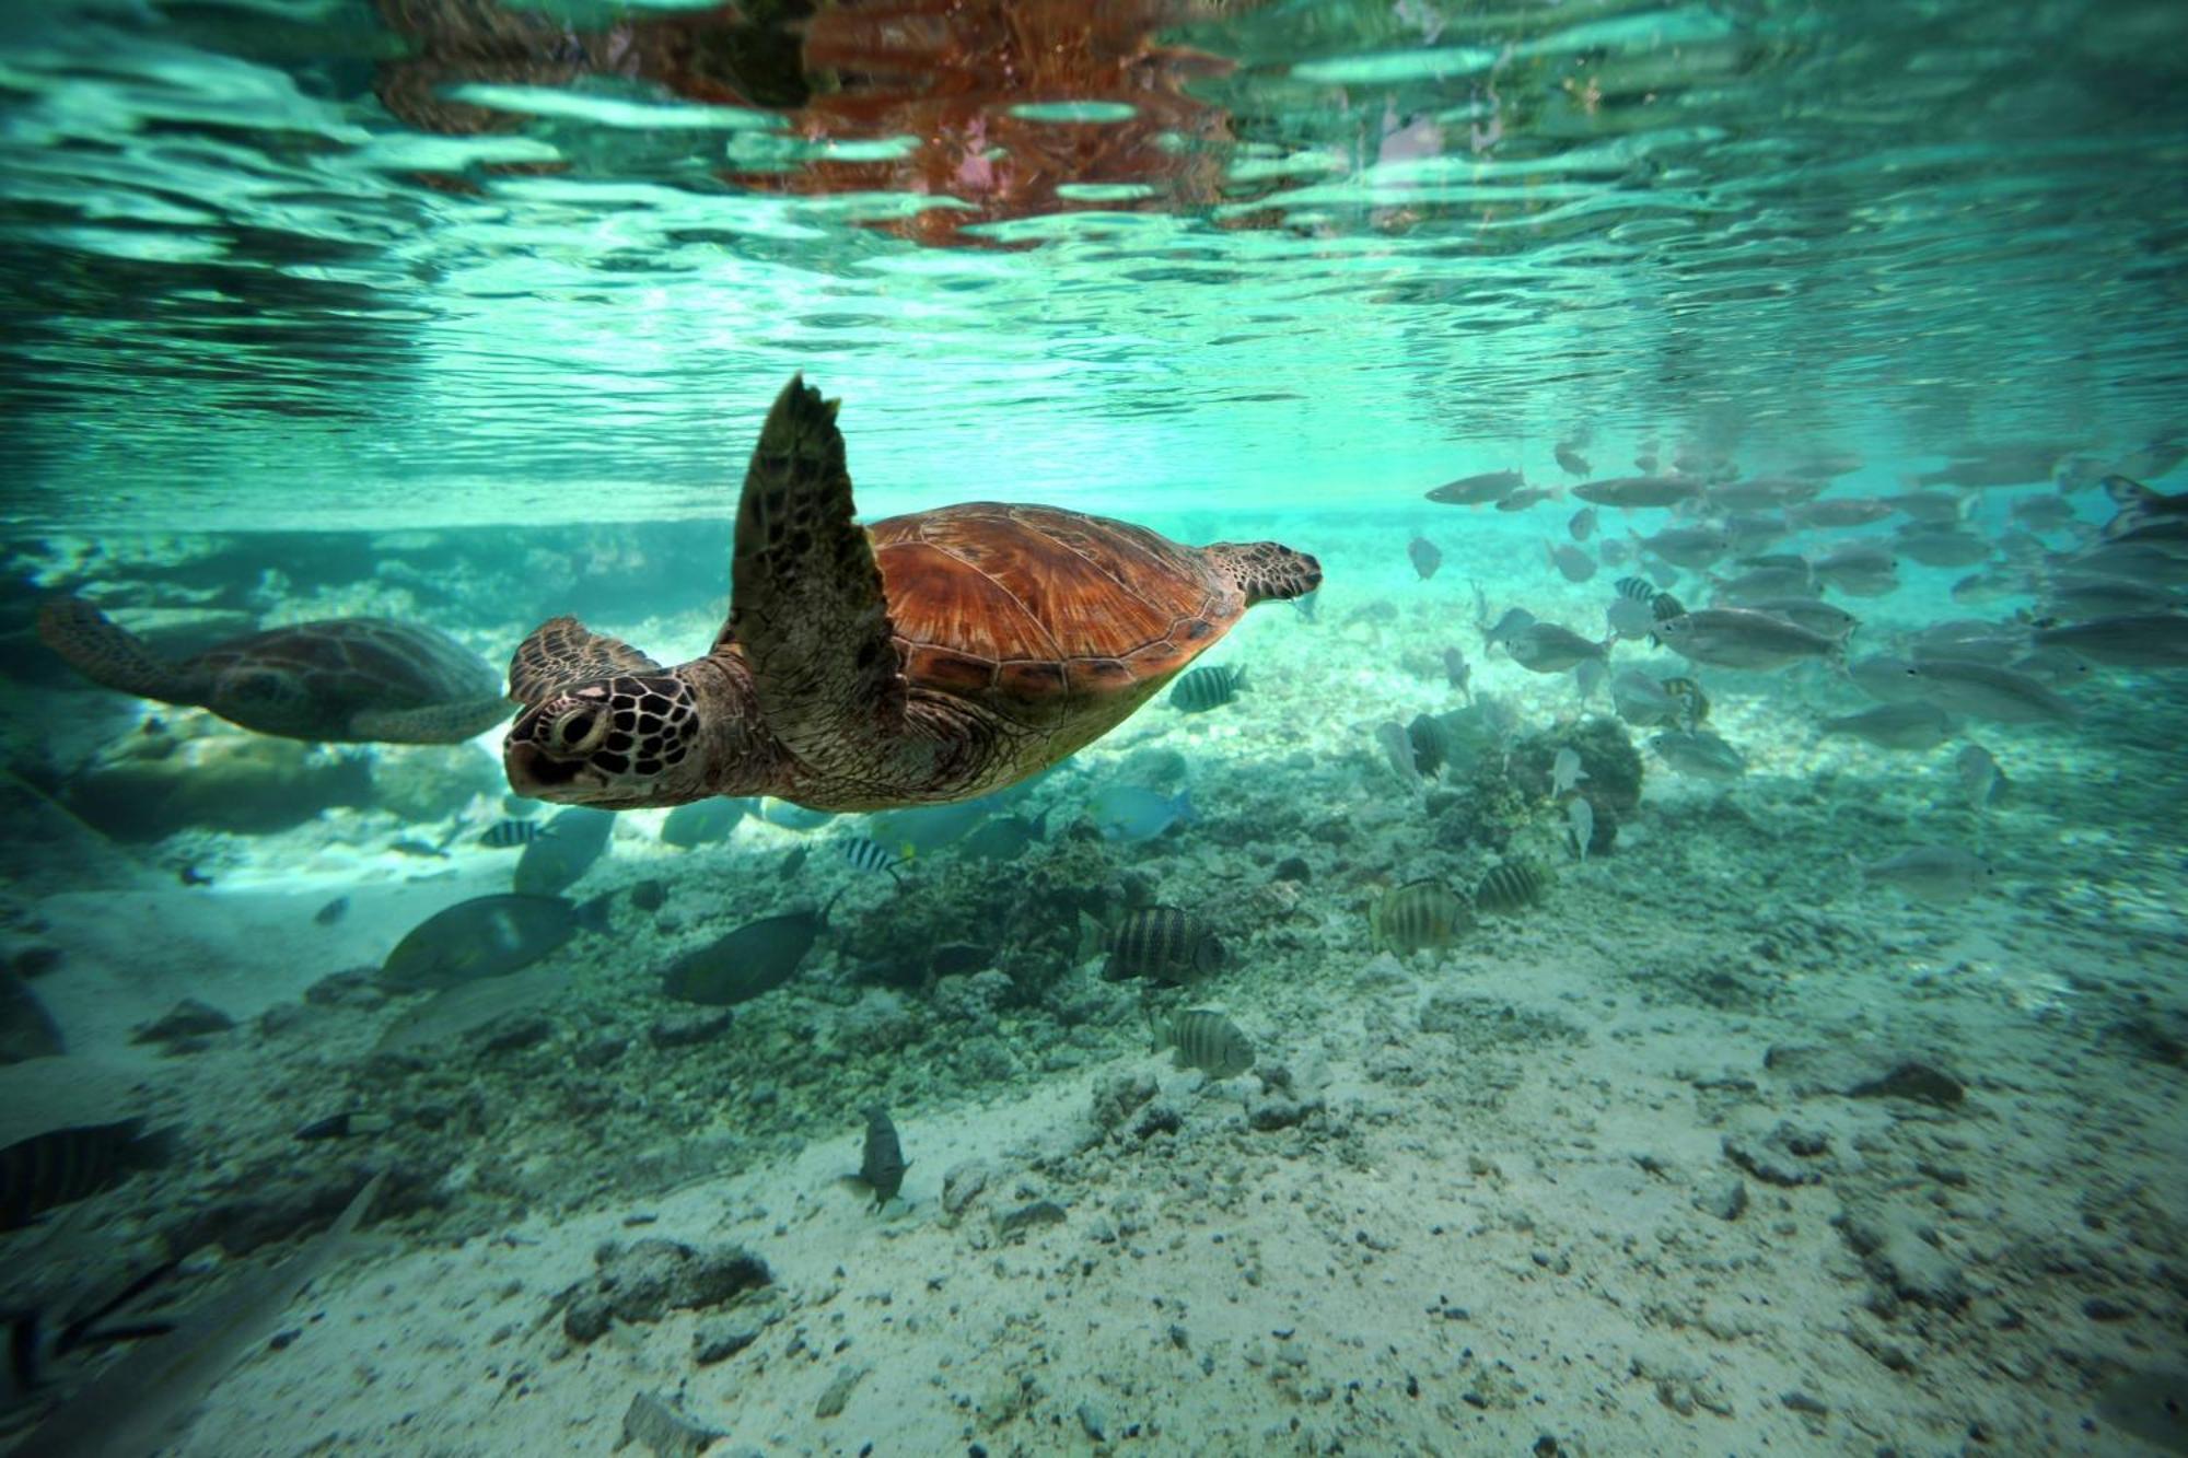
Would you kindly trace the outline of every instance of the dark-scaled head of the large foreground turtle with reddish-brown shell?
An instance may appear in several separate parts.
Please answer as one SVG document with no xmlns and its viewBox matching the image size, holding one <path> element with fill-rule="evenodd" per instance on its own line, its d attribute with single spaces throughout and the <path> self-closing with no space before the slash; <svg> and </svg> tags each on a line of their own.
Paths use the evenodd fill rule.
<svg viewBox="0 0 2188 1458">
<path fill-rule="evenodd" d="M 602 810 L 680 806 L 720 790 L 707 773 L 705 716 L 674 674 L 617 674 L 556 690 L 501 742 L 510 788 Z"/>
</svg>

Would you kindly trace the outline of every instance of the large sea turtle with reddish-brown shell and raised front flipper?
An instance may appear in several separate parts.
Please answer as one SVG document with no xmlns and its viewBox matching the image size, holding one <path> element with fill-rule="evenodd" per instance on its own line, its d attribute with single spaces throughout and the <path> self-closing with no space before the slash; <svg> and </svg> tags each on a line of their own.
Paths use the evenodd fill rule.
<svg viewBox="0 0 2188 1458">
<path fill-rule="evenodd" d="M 1050 506 L 851 519 L 836 401 L 792 379 L 737 504 L 713 650 L 661 668 L 556 617 L 510 663 L 521 795 L 628 810 L 969 799 L 1101 738 L 1238 615 L 1322 582 L 1276 543 L 1186 547 Z"/>
</svg>

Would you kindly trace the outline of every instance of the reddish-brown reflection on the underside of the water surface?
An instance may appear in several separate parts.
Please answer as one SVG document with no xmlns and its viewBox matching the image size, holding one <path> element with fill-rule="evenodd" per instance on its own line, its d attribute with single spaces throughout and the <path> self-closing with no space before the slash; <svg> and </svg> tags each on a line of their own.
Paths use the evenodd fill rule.
<svg viewBox="0 0 2188 1458">
<path fill-rule="evenodd" d="M 1232 140 L 1223 112 L 1186 90 L 1230 63 L 1157 39 L 1168 26 L 1206 20 L 1219 0 L 755 0 L 742 11 L 652 13 L 602 31 L 490 0 L 379 7 L 416 53 L 385 66 L 376 92 L 414 127 L 455 136 L 521 129 L 523 116 L 451 96 L 481 81 L 565 88 L 621 77 L 680 101 L 768 107 L 810 144 L 899 147 L 873 160 L 731 169 L 724 180 L 790 195 L 932 197 L 934 206 L 875 223 L 921 243 L 971 243 L 965 228 L 974 223 L 1085 208 L 1208 206 L 1221 197 Z M 1116 118 L 1024 112 L 1090 103 Z M 1087 186 L 1129 195 L 1072 195 Z"/>
</svg>

